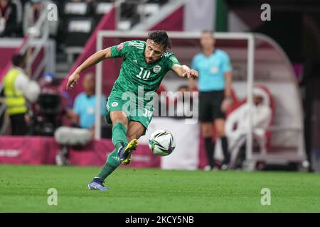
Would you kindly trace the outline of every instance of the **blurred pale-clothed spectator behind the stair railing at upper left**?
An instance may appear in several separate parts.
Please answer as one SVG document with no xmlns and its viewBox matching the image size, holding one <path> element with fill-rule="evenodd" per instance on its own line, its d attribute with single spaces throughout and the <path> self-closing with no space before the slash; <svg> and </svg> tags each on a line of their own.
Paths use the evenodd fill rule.
<svg viewBox="0 0 320 227">
<path fill-rule="evenodd" d="M 28 29 L 35 26 L 38 19 L 41 18 L 42 13 L 46 13 L 48 5 L 53 4 L 50 0 L 31 0 L 24 5 L 23 9 L 23 34 L 28 34 Z M 58 12 L 56 12 L 58 15 Z M 58 18 L 58 17 L 57 17 Z M 49 34 L 52 36 L 57 35 L 58 32 L 58 20 L 48 21 Z M 40 28 L 39 33 L 36 34 L 41 36 L 43 33 L 43 27 Z"/>
</svg>

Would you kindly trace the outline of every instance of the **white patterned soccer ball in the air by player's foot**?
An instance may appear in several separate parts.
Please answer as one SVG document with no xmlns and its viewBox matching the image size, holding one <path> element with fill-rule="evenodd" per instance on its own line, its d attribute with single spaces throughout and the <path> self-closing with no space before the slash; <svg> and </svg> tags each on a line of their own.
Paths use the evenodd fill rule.
<svg viewBox="0 0 320 227">
<path fill-rule="evenodd" d="M 174 148 L 176 148 L 176 141 L 169 131 L 159 129 L 151 134 L 149 148 L 154 155 L 170 155 L 174 151 Z"/>
</svg>

